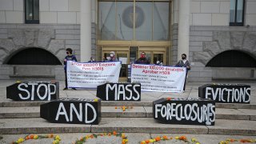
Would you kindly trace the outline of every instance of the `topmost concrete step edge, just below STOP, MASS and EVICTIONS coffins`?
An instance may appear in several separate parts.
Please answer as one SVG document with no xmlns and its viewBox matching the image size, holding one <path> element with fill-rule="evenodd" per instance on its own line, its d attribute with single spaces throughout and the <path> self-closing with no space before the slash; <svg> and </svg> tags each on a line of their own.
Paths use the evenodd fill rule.
<svg viewBox="0 0 256 144">
<path fill-rule="evenodd" d="M 34 102 L 0 102 L 0 107 L 22 107 L 22 106 L 40 106 L 46 103 L 42 101 Z M 152 106 L 153 102 L 104 102 L 102 101 L 102 106 Z M 241 103 L 216 103 L 217 108 L 226 109 L 252 109 L 256 110 L 256 104 L 241 104 Z"/>
</svg>

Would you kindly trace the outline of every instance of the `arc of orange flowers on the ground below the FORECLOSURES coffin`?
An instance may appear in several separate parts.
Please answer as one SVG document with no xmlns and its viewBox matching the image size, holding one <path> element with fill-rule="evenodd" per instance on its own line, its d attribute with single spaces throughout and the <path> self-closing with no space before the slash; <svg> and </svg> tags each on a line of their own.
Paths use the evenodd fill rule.
<svg viewBox="0 0 256 144">
<path fill-rule="evenodd" d="M 186 136 L 182 135 L 180 137 L 170 137 L 168 138 L 166 135 L 162 136 L 162 137 L 156 137 L 156 138 L 152 138 L 152 139 L 146 139 L 142 142 L 140 142 L 140 144 L 147 144 L 147 143 L 154 143 L 154 142 L 159 142 L 159 141 L 168 141 L 168 140 L 172 140 L 172 139 L 176 139 L 176 140 L 180 140 L 186 143 L 189 143 L 188 139 L 186 138 Z M 200 142 L 198 142 L 198 140 L 196 138 L 191 138 L 191 142 L 194 144 L 200 144 Z"/>
</svg>

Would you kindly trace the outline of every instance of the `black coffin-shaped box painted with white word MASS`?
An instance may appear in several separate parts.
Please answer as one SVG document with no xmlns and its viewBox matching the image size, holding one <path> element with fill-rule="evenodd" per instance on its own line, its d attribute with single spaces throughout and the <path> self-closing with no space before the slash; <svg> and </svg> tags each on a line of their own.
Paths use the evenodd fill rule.
<svg viewBox="0 0 256 144">
<path fill-rule="evenodd" d="M 97 86 L 97 97 L 103 101 L 141 101 L 141 84 L 105 83 Z"/>
</svg>

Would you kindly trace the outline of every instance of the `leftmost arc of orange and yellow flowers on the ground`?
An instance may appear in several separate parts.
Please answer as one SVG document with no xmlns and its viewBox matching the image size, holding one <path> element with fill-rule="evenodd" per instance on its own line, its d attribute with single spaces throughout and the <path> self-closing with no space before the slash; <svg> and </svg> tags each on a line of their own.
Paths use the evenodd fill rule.
<svg viewBox="0 0 256 144">
<path fill-rule="evenodd" d="M 15 142 L 12 142 L 12 144 L 19 144 L 30 139 L 42 139 L 42 138 L 53 138 L 54 139 L 53 144 L 59 144 L 59 142 L 62 140 L 58 135 L 54 136 L 54 134 L 47 134 L 47 135 L 29 134 L 29 135 L 26 135 L 26 137 L 24 138 L 18 138 L 18 140 Z"/>
</svg>

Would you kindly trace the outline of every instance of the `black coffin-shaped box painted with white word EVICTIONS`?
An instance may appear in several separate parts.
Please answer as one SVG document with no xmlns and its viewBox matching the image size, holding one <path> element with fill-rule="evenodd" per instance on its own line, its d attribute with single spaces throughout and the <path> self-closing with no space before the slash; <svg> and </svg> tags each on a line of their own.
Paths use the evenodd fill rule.
<svg viewBox="0 0 256 144">
<path fill-rule="evenodd" d="M 222 103 L 250 103 L 250 86 L 242 84 L 206 84 L 198 87 L 200 98 Z"/>
</svg>

